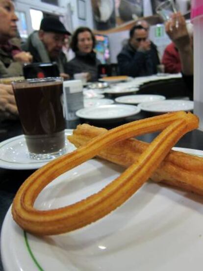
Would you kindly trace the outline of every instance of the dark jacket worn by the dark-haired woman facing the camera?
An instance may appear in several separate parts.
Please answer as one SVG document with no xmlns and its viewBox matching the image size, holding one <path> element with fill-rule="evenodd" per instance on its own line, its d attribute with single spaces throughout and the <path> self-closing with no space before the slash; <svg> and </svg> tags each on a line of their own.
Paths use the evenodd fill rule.
<svg viewBox="0 0 203 271">
<path fill-rule="evenodd" d="M 96 54 L 91 52 L 90 54 L 84 54 L 76 52 L 76 56 L 67 63 L 65 72 L 72 78 L 76 73 L 90 73 L 91 80 L 98 80 L 98 65 L 101 64 L 100 60 L 97 59 Z"/>
</svg>

